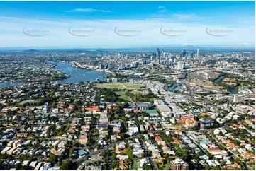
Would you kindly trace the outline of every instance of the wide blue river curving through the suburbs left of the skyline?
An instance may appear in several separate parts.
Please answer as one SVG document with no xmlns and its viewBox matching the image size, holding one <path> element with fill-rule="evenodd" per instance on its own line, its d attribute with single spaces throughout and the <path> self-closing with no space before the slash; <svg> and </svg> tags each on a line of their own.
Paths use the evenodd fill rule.
<svg viewBox="0 0 256 171">
<path fill-rule="evenodd" d="M 101 79 L 106 77 L 105 73 L 99 73 L 96 71 L 89 71 L 85 69 L 76 69 L 71 64 L 63 64 L 60 62 L 47 61 L 52 64 L 56 64 L 55 69 L 67 73 L 70 78 L 64 80 L 58 80 L 57 83 L 79 83 L 84 81 L 95 81 L 97 78 Z M 0 88 L 7 88 L 11 86 L 22 86 L 26 83 L 0 83 Z"/>
</svg>

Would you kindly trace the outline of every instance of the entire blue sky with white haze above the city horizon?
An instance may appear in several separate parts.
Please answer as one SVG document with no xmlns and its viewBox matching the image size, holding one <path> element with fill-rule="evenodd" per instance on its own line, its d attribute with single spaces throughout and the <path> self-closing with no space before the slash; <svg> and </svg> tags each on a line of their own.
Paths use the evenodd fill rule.
<svg viewBox="0 0 256 171">
<path fill-rule="evenodd" d="M 0 1 L 0 47 L 255 46 L 255 1 Z"/>
</svg>

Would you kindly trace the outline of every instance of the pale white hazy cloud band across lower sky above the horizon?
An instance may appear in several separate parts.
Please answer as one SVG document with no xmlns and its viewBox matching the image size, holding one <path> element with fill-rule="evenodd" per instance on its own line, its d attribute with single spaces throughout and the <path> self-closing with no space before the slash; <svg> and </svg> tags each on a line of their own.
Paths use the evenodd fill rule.
<svg viewBox="0 0 256 171">
<path fill-rule="evenodd" d="M 169 22 L 169 20 L 40 20 L 33 18 L 6 18 L 0 16 L 0 47 L 130 47 L 148 45 L 250 45 L 255 43 L 255 25 L 204 25 L 195 23 Z M 23 34 L 23 28 L 29 30 L 48 30 L 45 36 L 30 37 Z M 226 37 L 214 37 L 206 33 L 206 28 L 233 30 Z M 79 37 L 69 33 L 69 28 L 81 31 L 76 34 L 90 35 Z M 140 30 L 134 37 L 124 37 L 114 32 L 114 29 Z M 182 35 L 172 37 L 160 33 L 160 28 L 167 35 Z M 82 33 L 82 31 L 94 32 Z M 182 30 L 182 33 L 179 31 Z M 184 32 L 186 31 L 186 32 Z M 123 34 L 123 33 L 122 33 Z M 131 34 L 133 35 L 133 34 Z"/>
</svg>

